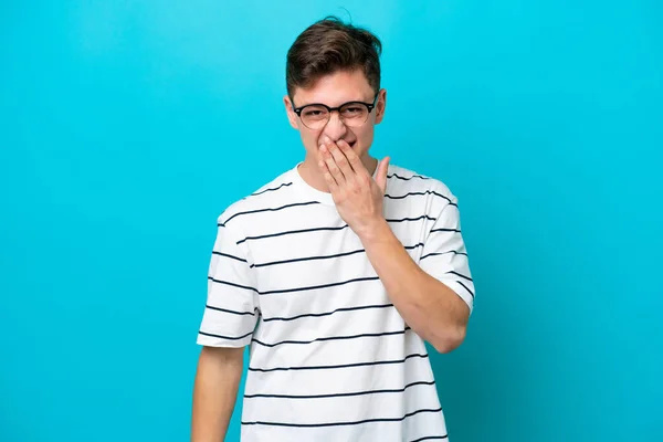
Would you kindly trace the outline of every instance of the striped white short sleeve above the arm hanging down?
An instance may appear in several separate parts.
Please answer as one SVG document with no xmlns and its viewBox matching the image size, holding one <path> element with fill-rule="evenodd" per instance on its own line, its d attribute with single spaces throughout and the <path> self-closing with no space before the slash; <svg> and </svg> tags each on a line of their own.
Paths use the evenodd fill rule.
<svg viewBox="0 0 663 442">
<path fill-rule="evenodd" d="M 251 343 L 259 316 L 255 275 L 248 249 L 219 219 L 208 272 L 208 296 L 198 344 L 244 347 Z"/>
</svg>

